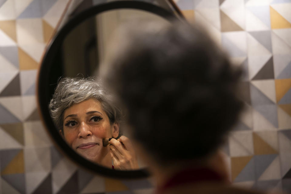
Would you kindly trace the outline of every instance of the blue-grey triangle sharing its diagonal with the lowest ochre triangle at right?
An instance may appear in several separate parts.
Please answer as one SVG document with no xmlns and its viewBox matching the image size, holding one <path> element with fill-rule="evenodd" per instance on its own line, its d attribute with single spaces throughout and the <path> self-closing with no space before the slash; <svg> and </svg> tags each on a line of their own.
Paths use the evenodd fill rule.
<svg viewBox="0 0 291 194">
<path fill-rule="evenodd" d="M 252 158 L 234 179 L 234 182 L 253 181 L 255 179 L 255 160 Z"/>
</svg>

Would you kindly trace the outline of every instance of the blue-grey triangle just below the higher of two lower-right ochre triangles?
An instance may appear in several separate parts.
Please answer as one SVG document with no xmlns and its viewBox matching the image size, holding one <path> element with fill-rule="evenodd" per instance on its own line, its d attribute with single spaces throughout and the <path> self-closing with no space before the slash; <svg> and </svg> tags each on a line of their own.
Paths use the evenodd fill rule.
<svg viewBox="0 0 291 194">
<path fill-rule="evenodd" d="M 254 156 L 256 169 L 255 172 L 257 178 L 259 178 L 263 174 L 263 172 L 265 172 L 265 170 L 277 156 L 278 154 L 266 154 Z"/>
</svg>

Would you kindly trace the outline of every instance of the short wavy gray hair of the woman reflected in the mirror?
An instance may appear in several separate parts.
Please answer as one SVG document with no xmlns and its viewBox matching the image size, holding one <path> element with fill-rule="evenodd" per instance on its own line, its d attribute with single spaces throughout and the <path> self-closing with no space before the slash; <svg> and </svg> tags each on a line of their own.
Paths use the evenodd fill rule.
<svg viewBox="0 0 291 194">
<path fill-rule="evenodd" d="M 120 123 L 122 112 L 113 105 L 113 98 L 101 86 L 101 80 L 89 78 L 62 78 L 59 80 L 55 93 L 49 103 L 50 115 L 56 127 L 63 132 L 64 112 L 70 106 L 84 100 L 96 99 L 100 102 L 109 122 Z"/>
</svg>

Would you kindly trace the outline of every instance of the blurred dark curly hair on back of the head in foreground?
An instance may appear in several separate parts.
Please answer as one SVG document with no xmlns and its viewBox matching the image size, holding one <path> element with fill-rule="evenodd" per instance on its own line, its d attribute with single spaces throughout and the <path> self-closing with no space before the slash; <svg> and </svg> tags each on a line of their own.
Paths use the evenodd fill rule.
<svg viewBox="0 0 291 194">
<path fill-rule="evenodd" d="M 214 152 L 243 108 L 242 69 L 200 26 L 151 22 L 119 35 L 114 43 L 122 46 L 102 75 L 126 107 L 134 138 L 162 162 Z"/>
</svg>

